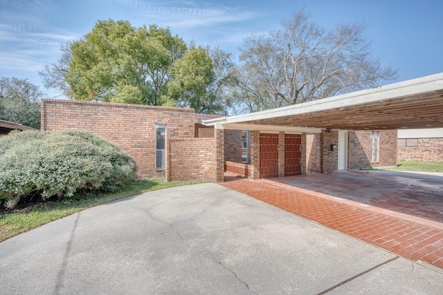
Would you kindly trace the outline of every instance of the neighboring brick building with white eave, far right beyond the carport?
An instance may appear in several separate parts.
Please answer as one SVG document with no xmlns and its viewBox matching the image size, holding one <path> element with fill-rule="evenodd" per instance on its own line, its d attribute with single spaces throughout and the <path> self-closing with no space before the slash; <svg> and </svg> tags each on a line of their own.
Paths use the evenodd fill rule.
<svg viewBox="0 0 443 295">
<path fill-rule="evenodd" d="M 443 128 L 399 130 L 399 160 L 443 162 Z"/>
</svg>

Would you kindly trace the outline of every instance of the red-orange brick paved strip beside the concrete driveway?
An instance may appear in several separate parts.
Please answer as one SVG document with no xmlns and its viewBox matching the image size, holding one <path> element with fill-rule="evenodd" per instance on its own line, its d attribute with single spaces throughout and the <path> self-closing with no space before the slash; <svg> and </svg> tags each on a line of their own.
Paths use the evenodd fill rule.
<svg viewBox="0 0 443 295">
<path fill-rule="evenodd" d="M 297 188 L 249 179 L 221 184 L 399 256 L 443 268 L 443 229 L 327 200 Z"/>
</svg>

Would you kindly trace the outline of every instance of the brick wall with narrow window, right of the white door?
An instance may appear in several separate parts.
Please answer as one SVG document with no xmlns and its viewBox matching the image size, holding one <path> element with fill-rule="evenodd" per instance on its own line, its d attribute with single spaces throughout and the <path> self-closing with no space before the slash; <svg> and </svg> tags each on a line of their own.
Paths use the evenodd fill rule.
<svg viewBox="0 0 443 295">
<path fill-rule="evenodd" d="M 380 131 L 379 162 L 370 162 L 370 131 L 349 132 L 348 168 L 397 165 L 397 130 Z"/>
</svg>

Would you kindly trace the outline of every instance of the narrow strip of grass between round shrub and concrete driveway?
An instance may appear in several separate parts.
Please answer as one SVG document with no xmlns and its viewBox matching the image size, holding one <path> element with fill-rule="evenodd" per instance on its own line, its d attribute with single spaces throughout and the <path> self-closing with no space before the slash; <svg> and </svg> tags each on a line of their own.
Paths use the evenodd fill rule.
<svg viewBox="0 0 443 295">
<path fill-rule="evenodd" d="M 0 211 L 0 242 L 18 234 L 35 229 L 53 220 L 69 216 L 75 212 L 105 204 L 121 198 L 134 196 L 145 191 L 156 191 L 168 187 L 179 187 L 201 182 L 176 181 L 165 182 L 162 179 L 134 180 L 126 187 L 112 193 L 96 193 L 86 196 L 74 196 L 56 202 L 39 202 L 12 211 Z M 1 209 L 0 209 L 1 210 Z"/>
</svg>

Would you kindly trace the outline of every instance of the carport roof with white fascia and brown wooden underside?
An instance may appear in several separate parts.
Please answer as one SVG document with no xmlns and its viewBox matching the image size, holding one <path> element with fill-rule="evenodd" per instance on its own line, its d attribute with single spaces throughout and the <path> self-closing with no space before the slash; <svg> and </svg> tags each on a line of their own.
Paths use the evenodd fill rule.
<svg viewBox="0 0 443 295">
<path fill-rule="evenodd" d="M 443 127 L 443 73 L 267 111 L 204 120 L 217 128 L 429 129 Z"/>
</svg>

